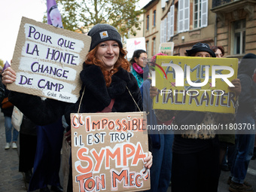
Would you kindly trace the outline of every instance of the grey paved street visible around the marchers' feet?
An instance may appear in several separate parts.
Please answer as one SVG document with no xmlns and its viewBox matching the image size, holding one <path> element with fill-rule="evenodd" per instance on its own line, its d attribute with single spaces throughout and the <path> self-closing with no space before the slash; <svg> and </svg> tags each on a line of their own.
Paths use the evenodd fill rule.
<svg viewBox="0 0 256 192">
<path fill-rule="evenodd" d="M 19 149 L 19 145 L 18 145 Z M 28 184 L 23 180 L 23 173 L 19 172 L 19 150 L 10 148 L 5 150 L 5 119 L 0 113 L 0 192 L 25 192 Z M 227 192 L 227 178 L 229 172 L 221 172 L 219 192 Z M 62 183 L 62 173 L 60 172 Z M 248 174 L 245 178 L 256 191 L 256 160 L 251 160 Z M 63 186 L 63 185 L 62 185 Z M 171 192 L 169 187 L 168 192 Z M 189 191 L 188 191 L 189 192 Z M 207 190 L 206 190 L 207 192 Z"/>
</svg>

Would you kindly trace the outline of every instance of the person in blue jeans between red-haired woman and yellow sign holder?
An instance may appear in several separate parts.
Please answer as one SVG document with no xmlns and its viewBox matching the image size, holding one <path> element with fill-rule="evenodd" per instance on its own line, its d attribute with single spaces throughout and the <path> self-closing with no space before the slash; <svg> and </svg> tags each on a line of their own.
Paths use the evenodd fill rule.
<svg viewBox="0 0 256 192">
<path fill-rule="evenodd" d="M 166 55 L 157 53 L 157 55 Z M 149 65 L 154 66 L 156 56 L 153 56 Z M 148 66 L 148 65 L 147 65 Z M 146 71 L 146 70 L 145 70 Z M 143 110 L 147 113 L 148 136 L 151 139 L 151 151 L 154 164 L 151 166 L 151 190 L 152 192 L 165 192 L 168 190 L 172 174 L 172 142 L 173 133 L 170 130 L 155 130 L 155 126 L 171 124 L 172 120 L 160 122 L 157 119 L 150 97 L 151 78 L 144 72 L 144 81 L 140 87 L 143 99 Z"/>
</svg>

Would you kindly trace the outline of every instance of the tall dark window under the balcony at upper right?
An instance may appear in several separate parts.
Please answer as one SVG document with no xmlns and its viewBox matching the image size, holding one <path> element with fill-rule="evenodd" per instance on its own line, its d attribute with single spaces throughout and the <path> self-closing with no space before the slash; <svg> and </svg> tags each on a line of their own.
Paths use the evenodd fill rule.
<svg viewBox="0 0 256 192">
<path fill-rule="evenodd" d="M 245 20 L 233 23 L 233 54 L 245 53 Z"/>
</svg>

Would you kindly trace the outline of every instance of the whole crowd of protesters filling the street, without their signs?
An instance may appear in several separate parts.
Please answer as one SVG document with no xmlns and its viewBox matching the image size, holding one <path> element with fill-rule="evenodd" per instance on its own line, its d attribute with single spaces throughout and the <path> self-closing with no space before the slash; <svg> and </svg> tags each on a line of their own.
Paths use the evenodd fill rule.
<svg viewBox="0 0 256 192">
<path fill-rule="evenodd" d="M 102 38 L 99 35 L 101 32 L 107 32 L 108 36 Z M 136 50 L 129 62 L 126 59 L 126 51 L 123 50 L 120 34 L 113 26 L 97 24 L 88 35 L 92 38 L 92 43 L 80 73 L 82 85 L 76 103 L 70 104 L 54 99 L 42 99 L 26 93 L 10 92 L 5 86 L 15 81 L 16 73 L 11 67 L 3 72 L 4 85 L 0 82 L 0 99 L 8 97 L 24 114 L 20 130 L 22 149 L 20 172 L 26 173 L 29 191 L 37 189 L 50 191 L 48 185 L 51 185 L 51 190 L 54 191 L 72 191 L 71 160 L 69 165 L 66 165 L 69 166 L 68 184 L 64 189 L 60 186 L 60 151 L 63 134 L 69 133 L 71 129 L 70 114 L 77 112 L 78 108 L 80 113 L 96 113 L 105 108 L 110 108 L 112 112 L 146 111 L 147 123 L 150 125 L 181 126 L 202 123 L 254 125 L 256 98 L 256 84 L 253 81 L 256 68 L 254 54 L 248 53 L 242 58 L 238 77 L 231 81 L 234 87 L 229 87 L 230 91 L 236 94 L 236 100 L 239 102 L 239 105 L 236 105 L 236 114 L 154 110 L 152 99 L 159 93 L 157 87 L 151 86 L 151 70 L 154 70 L 152 66 L 156 62 L 156 57 L 164 54 L 158 53 L 148 62 L 147 52 Z M 186 53 L 187 56 L 221 58 L 224 56 L 224 48 L 197 43 L 186 50 Z M 5 114 L 6 150 L 10 148 L 10 144 L 12 148 L 17 148 L 18 131 L 11 125 L 13 107 L 8 108 L 8 112 L 2 108 Z M 254 137 L 254 134 L 249 133 L 218 135 L 214 130 L 200 132 L 186 130 L 178 134 L 175 134 L 175 131 L 168 133 L 148 131 L 150 152 L 145 158 L 145 167 L 151 168 L 149 191 L 166 191 L 171 185 L 172 192 L 217 192 L 221 169 L 225 163 L 230 165 L 228 167 L 230 178 L 227 178 L 230 191 L 252 191 L 251 184 L 245 181 L 245 175 L 248 163 L 255 152 Z M 28 141 L 35 144 L 34 148 L 31 145 L 29 147 Z M 26 150 L 29 150 L 29 153 Z M 71 153 L 67 154 L 70 158 Z M 229 156 L 231 157 L 228 158 Z M 29 160 L 24 160 L 26 157 Z"/>
</svg>

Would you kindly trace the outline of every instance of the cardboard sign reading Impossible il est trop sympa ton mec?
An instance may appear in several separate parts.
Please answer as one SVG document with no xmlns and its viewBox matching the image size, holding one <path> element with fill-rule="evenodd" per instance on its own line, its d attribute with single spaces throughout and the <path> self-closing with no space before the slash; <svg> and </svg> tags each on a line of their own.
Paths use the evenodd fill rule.
<svg viewBox="0 0 256 192">
<path fill-rule="evenodd" d="M 71 114 L 73 191 L 150 188 L 143 112 Z"/>
</svg>

